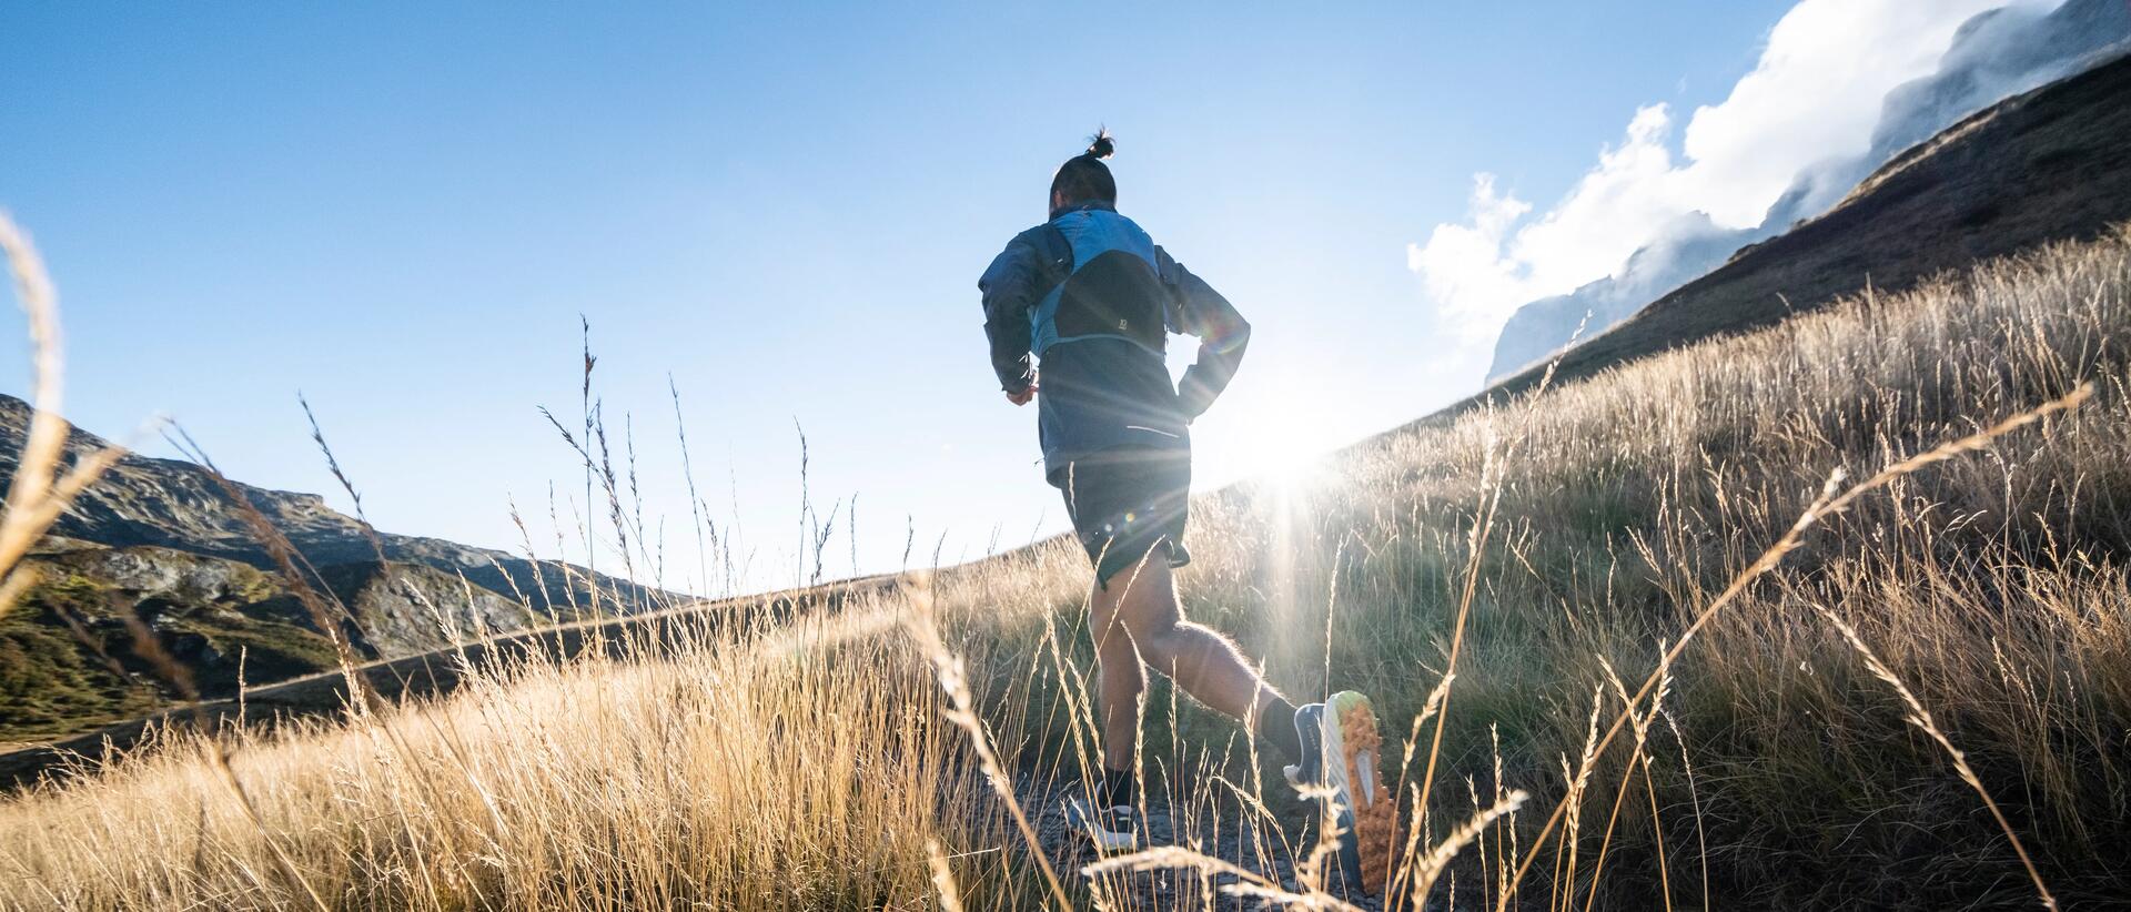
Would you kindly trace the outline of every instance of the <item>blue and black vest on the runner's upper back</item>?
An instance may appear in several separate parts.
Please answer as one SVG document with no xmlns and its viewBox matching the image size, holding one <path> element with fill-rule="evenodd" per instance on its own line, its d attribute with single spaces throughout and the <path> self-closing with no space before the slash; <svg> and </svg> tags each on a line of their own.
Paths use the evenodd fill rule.
<svg viewBox="0 0 2131 912">
<path fill-rule="evenodd" d="M 1110 209 L 1063 213 L 1040 232 L 1038 288 L 1029 352 L 1080 339 L 1125 339 L 1155 358 L 1168 349 L 1170 294 L 1161 286 L 1155 241 Z"/>
</svg>

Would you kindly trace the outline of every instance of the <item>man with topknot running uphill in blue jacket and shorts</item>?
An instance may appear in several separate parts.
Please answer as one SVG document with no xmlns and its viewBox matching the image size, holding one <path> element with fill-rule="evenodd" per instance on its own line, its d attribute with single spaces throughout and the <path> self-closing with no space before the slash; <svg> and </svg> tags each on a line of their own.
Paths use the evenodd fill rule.
<svg viewBox="0 0 2131 912">
<path fill-rule="evenodd" d="M 1140 844 L 1132 752 L 1144 665 L 1270 744 L 1289 761 L 1289 782 L 1334 786 L 1351 820 L 1347 795 L 1374 795 L 1374 759 L 1347 759 L 1343 727 L 1323 727 L 1325 703 L 1298 710 L 1234 644 L 1185 620 L 1176 603 L 1170 571 L 1191 560 L 1183 543 L 1189 424 L 1236 375 L 1251 324 L 1117 213 L 1117 181 L 1102 164 L 1110 151 L 1108 132 L 1097 132 L 1085 153 L 1066 160 L 1051 179 L 1051 219 L 1016 234 L 978 279 L 991 367 L 1008 403 L 1038 401 L 1044 473 L 1066 494 L 1095 565 L 1089 629 L 1100 665 L 1102 780 L 1093 795 L 1068 801 L 1068 823 L 1106 850 Z M 1176 384 L 1164 358 L 1170 332 L 1200 339 L 1198 362 Z M 1334 718 L 1345 720 L 1355 705 L 1366 710 L 1366 699 L 1334 697 Z M 1325 771 L 1323 756 L 1343 763 Z"/>
</svg>

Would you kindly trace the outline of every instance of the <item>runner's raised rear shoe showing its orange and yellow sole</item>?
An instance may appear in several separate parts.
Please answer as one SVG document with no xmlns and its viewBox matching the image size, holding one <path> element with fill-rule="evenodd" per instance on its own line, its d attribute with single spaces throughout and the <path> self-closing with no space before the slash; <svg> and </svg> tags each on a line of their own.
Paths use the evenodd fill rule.
<svg viewBox="0 0 2131 912">
<path fill-rule="evenodd" d="M 1328 816 L 1343 831 L 1338 880 L 1374 893 L 1389 872 L 1398 829 L 1396 803 L 1379 776 L 1383 735 L 1377 710 L 1368 697 L 1340 690 L 1323 703 L 1298 707 L 1296 731 L 1302 735 L 1302 763 L 1283 769 L 1287 782 L 1332 791 Z"/>
</svg>

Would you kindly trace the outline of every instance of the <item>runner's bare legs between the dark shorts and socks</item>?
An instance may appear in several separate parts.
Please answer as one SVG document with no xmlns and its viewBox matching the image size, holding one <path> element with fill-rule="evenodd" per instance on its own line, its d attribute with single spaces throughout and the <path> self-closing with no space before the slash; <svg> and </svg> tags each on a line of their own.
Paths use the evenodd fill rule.
<svg viewBox="0 0 2131 912">
<path fill-rule="evenodd" d="M 1285 705 L 1227 637 L 1183 620 L 1170 565 L 1159 548 L 1151 556 L 1097 588 L 1089 618 L 1100 665 L 1104 765 L 1110 769 L 1132 769 L 1138 701 L 1146 690 L 1142 661 L 1245 727 L 1255 727 L 1268 703 Z"/>
</svg>

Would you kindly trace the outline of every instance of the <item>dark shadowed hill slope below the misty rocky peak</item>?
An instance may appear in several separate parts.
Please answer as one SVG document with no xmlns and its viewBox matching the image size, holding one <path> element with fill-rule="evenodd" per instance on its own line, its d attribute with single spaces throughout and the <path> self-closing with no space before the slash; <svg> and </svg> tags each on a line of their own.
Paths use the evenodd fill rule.
<svg viewBox="0 0 2131 912">
<path fill-rule="evenodd" d="M 2065 9 L 2073 4 L 2080 0 Z M 1588 377 L 1713 335 L 1769 326 L 1867 288 L 1894 292 L 1978 260 L 2091 239 L 2131 222 L 2127 98 L 2131 58 L 2116 55 L 1965 117 L 1894 156 L 1824 215 L 1739 249 L 1711 273 L 1571 347 L 1560 356 L 1558 377 Z M 1426 420 L 1526 390 L 1543 373 L 1545 362 L 1532 362 Z"/>
</svg>

